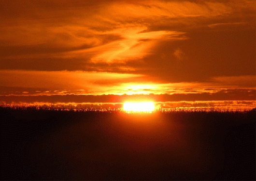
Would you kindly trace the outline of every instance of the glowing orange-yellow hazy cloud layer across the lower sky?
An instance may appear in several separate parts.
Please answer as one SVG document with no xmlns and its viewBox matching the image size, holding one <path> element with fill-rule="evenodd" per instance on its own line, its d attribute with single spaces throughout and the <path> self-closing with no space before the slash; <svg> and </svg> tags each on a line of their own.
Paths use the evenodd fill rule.
<svg viewBox="0 0 256 181">
<path fill-rule="evenodd" d="M 255 89 L 255 76 L 213 77 L 207 82 L 159 83 L 140 74 L 92 71 L 0 70 L 0 95 L 214 93 Z"/>
</svg>

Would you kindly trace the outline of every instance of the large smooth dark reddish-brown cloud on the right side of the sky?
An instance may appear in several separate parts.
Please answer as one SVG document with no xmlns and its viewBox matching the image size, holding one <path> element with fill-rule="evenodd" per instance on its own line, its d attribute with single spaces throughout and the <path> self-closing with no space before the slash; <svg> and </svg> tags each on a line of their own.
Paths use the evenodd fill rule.
<svg viewBox="0 0 256 181">
<path fill-rule="evenodd" d="M 165 82 L 208 81 L 215 76 L 255 75 L 255 29 L 232 32 L 190 32 L 189 39 L 163 42 L 145 57 L 140 73 Z M 176 61 L 180 48 L 187 57 Z M 161 56 L 164 54 L 164 58 Z M 158 61 L 156 61 L 158 60 Z M 127 65 L 132 67 L 132 63 Z M 139 73 L 136 72 L 136 73 Z"/>
</svg>

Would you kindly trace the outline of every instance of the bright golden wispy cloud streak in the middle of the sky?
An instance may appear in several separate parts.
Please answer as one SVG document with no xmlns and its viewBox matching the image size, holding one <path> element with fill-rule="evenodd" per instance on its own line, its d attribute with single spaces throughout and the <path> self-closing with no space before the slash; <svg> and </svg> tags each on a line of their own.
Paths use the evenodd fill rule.
<svg viewBox="0 0 256 181">
<path fill-rule="evenodd" d="M 154 47 L 157 42 L 156 40 L 175 39 L 184 34 L 182 32 L 171 31 L 143 32 L 143 30 L 146 30 L 146 27 L 131 27 L 116 30 L 122 33 L 124 40 L 97 47 L 95 51 L 98 52 L 101 50 L 102 53 L 94 56 L 91 62 L 124 63 L 130 60 L 142 59 L 150 54 L 150 49 Z"/>
</svg>

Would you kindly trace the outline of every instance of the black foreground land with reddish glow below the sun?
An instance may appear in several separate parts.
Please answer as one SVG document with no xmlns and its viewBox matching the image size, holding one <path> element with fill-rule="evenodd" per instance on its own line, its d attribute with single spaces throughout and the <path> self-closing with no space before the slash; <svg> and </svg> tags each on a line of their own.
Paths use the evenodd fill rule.
<svg viewBox="0 0 256 181">
<path fill-rule="evenodd" d="M 256 180 L 256 113 L 0 109 L 1 180 Z"/>
</svg>

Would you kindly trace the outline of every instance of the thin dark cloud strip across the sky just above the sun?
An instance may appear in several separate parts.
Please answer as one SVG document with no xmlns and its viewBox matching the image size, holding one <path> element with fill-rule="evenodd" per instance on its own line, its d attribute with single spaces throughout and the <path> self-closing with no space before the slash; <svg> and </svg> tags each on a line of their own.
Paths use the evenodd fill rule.
<svg viewBox="0 0 256 181">
<path fill-rule="evenodd" d="M 141 102 L 179 102 L 179 101 L 255 101 L 256 90 L 220 90 L 215 93 L 175 93 L 175 94 L 133 94 L 133 95 L 36 95 L 0 96 L 0 102 L 14 103 L 124 103 Z"/>
</svg>

